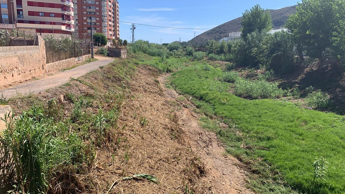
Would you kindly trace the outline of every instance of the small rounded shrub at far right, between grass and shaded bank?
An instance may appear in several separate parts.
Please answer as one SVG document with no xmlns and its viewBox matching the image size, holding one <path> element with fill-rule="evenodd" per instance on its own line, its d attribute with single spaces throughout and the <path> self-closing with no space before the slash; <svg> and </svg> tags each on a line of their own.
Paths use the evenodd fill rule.
<svg viewBox="0 0 345 194">
<path fill-rule="evenodd" d="M 312 86 L 307 88 L 307 106 L 312 108 L 326 108 L 329 104 L 329 95 L 321 90 L 315 90 Z"/>
</svg>

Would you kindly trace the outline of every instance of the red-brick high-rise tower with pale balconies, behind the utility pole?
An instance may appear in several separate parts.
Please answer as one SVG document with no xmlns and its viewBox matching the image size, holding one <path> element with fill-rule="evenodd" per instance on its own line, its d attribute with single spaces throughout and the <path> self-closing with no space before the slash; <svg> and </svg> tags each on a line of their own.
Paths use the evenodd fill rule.
<svg viewBox="0 0 345 194">
<path fill-rule="evenodd" d="M 112 44 L 113 39 L 119 39 L 119 2 L 117 0 L 76 0 L 73 7 L 77 25 L 76 35 L 90 37 L 92 22 L 93 33 L 103 33 L 108 39 L 108 45 Z"/>
</svg>

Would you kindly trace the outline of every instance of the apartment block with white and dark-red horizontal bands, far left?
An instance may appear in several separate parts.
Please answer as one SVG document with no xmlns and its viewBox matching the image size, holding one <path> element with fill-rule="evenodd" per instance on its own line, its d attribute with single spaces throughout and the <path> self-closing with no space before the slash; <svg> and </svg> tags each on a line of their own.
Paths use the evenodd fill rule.
<svg viewBox="0 0 345 194">
<path fill-rule="evenodd" d="M 42 36 L 70 36 L 74 31 L 72 0 L 0 0 L 1 23 Z M 10 25 L 8 25 L 10 26 Z"/>
</svg>

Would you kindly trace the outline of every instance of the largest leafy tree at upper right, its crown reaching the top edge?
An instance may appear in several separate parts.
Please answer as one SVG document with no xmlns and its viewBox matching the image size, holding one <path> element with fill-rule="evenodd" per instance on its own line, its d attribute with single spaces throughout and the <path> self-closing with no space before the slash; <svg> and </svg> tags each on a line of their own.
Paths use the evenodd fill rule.
<svg viewBox="0 0 345 194">
<path fill-rule="evenodd" d="M 297 42 L 299 55 L 302 55 L 302 48 L 307 54 L 316 57 L 323 62 L 323 52 L 332 48 L 332 37 L 335 31 L 333 5 L 339 0 L 303 0 L 298 3 L 297 11 L 292 14 L 286 27 Z M 300 56 L 302 59 L 302 56 Z"/>
</svg>

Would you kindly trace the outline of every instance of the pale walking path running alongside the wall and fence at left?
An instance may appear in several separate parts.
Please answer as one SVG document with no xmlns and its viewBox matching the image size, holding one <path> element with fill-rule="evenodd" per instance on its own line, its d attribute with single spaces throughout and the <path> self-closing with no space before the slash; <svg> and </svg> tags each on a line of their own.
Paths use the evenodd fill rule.
<svg viewBox="0 0 345 194">
<path fill-rule="evenodd" d="M 39 80 L 28 81 L 23 84 L 13 86 L 11 88 L 0 90 L 0 96 L 3 95 L 4 97 L 9 98 L 16 95 L 17 93 L 39 93 L 45 91 L 46 89 L 65 84 L 68 82 L 70 77 L 80 77 L 92 70 L 99 68 L 99 66 L 107 65 L 114 60 L 109 57 L 95 57 L 98 59 L 98 61 L 93 61 L 66 71 L 58 71 L 53 75 L 43 76 Z"/>
</svg>

